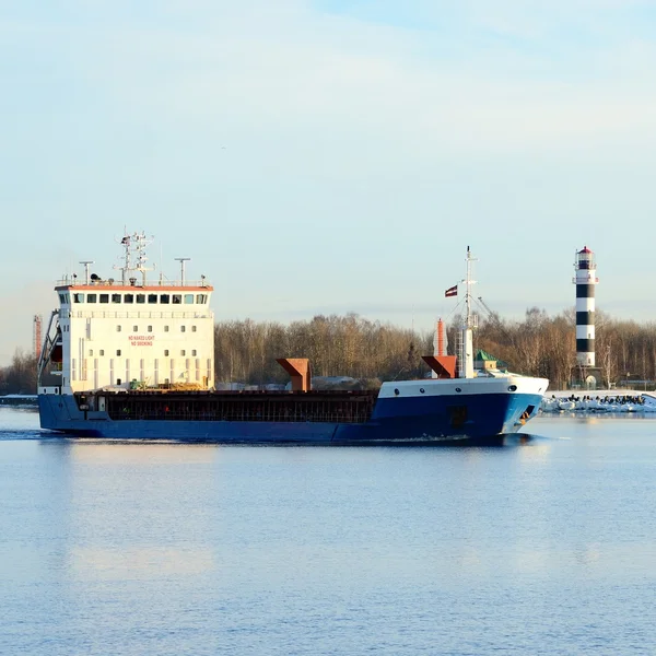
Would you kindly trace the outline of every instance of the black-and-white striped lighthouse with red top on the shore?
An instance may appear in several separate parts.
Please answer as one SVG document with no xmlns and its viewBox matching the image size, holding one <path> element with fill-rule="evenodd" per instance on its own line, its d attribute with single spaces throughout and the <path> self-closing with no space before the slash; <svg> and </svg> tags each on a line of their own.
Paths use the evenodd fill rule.
<svg viewBox="0 0 656 656">
<path fill-rule="evenodd" d="M 576 363 L 579 366 L 595 366 L 595 285 L 597 265 L 595 254 L 584 246 L 576 253 L 574 261 L 576 276 Z"/>
</svg>

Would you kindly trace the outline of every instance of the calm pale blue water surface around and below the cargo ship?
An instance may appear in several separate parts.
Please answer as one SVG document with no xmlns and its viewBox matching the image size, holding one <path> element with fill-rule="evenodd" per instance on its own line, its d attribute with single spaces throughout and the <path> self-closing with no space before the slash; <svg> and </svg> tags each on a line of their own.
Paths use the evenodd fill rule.
<svg viewBox="0 0 656 656">
<path fill-rule="evenodd" d="M 656 419 L 487 449 L 37 423 L 0 409 L 0 654 L 656 653 Z"/>
</svg>

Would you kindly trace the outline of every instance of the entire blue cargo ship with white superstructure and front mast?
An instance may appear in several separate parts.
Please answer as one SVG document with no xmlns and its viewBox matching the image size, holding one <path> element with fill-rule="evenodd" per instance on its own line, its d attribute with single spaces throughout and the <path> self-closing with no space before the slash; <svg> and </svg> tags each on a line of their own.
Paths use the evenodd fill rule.
<svg viewBox="0 0 656 656">
<path fill-rule="evenodd" d="M 81 280 L 56 284 L 39 358 L 42 427 L 116 440 L 442 444 L 514 433 L 539 410 L 547 379 L 473 367 L 469 249 L 457 355 L 425 356 L 433 378 L 313 390 L 307 361 L 281 359 L 291 390 L 225 391 L 214 385 L 212 286 L 185 279 L 187 258 L 179 280 L 148 281 L 145 242 L 122 237 L 120 280 L 91 273 L 86 261 Z"/>
</svg>

